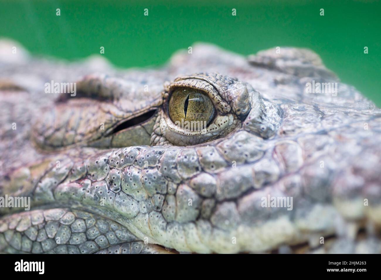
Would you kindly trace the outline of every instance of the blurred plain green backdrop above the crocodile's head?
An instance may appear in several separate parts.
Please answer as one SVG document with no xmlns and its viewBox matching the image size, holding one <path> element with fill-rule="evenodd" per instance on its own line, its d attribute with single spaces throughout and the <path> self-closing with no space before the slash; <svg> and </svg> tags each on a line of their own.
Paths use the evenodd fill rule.
<svg viewBox="0 0 381 280">
<path fill-rule="evenodd" d="M 0 0 L 0 37 L 19 41 L 33 54 L 77 59 L 104 46 L 111 62 L 132 67 L 163 64 L 196 41 L 245 55 L 274 46 L 305 47 L 378 107 L 380 30 L 381 2 L 367 0 Z"/>
</svg>

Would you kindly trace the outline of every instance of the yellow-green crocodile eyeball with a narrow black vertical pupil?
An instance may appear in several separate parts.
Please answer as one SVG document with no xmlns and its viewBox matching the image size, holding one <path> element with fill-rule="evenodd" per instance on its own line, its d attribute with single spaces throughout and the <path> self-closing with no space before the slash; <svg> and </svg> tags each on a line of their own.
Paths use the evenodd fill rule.
<svg viewBox="0 0 381 280">
<path fill-rule="evenodd" d="M 209 96 L 199 89 L 178 87 L 169 100 L 169 116 L 172 121 L 206 121 L 207 126 L 215 115 L 215 108 Z"/>
</svg>

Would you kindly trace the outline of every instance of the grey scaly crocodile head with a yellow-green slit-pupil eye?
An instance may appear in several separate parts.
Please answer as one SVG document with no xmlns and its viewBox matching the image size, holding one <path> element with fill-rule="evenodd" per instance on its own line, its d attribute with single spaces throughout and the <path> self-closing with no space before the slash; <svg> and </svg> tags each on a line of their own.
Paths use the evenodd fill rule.
<svg viewBox="0 0 381 280">
<path fill-rule="evenodd" d="M 381 252 L 381 110 L 309 49 L 0 69 L 3 253 Z"/>
</svg>

